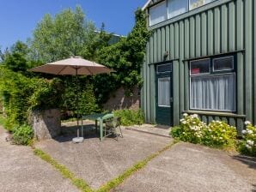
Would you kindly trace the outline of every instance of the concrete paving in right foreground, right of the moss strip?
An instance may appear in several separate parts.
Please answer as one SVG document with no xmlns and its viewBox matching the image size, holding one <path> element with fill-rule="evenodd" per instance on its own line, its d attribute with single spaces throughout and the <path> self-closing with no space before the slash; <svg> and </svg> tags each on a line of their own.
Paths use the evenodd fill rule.
<svg viewBox="0 0 256 192">
<path fill-rule="evenodd" d="M 256 191 L 256 161 L 241 159 L 245 158 L 178 143 L 113 191 Z"/>
</svg>

